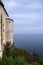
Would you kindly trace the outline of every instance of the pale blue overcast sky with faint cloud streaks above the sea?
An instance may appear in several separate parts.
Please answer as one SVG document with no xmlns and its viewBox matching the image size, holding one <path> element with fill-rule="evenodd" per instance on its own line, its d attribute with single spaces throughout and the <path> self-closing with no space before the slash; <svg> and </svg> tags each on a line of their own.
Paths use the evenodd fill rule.
<svg viewBox="0 0 43 65">
<path fill-rule="evenodd" d="M 43 0 L 3 0 L 14 33 L 43 33 Z"/>
</svg>

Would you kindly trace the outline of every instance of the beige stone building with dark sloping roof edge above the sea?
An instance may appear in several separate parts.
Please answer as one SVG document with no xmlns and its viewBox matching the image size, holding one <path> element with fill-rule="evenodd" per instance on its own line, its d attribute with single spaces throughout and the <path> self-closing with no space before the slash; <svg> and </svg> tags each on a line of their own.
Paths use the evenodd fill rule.
<svg viewBox="0 0 43 65">
<path fill-rule="evenodd" d="M 10 42 L 13 43 L 13 20 L 0 0 L 0 57 L 2 57 L 4 45 Z"/>
</svg>

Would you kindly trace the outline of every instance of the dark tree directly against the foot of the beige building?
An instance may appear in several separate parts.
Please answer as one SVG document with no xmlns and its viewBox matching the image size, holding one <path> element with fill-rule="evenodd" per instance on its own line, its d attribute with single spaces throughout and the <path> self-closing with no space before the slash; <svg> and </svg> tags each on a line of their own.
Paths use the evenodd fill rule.
<svg viewBox="0 0 43 65">
<path fill-rule="evenodd" d="M 14 53 L 14 44 L 11 45 L 11 43 L 7 42 L 3 51 L 3 57 L 13 56 L 14 55 L 13 53 Z"/>
</svg>

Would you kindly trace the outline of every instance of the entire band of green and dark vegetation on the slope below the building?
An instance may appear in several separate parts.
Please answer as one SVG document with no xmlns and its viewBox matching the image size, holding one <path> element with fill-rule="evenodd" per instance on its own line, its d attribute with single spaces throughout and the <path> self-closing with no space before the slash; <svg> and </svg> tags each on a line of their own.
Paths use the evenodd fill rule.
<svg viewBox="0 0 43 65">
<path fill-rule="evenodd" d="M 43 58 L 22 48 L 17 48 L 14 44 L 7 43 L 3 57 L 0 59 L 0 65 L 43 65 Z"/>
</svg>

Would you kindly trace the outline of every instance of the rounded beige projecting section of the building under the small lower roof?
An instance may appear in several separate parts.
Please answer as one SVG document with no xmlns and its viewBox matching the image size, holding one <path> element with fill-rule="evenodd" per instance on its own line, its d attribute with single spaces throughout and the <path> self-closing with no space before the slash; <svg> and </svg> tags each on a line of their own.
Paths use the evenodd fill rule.
<svg viewBox="0 0 43 65">
<path fill-rule="evenodd" d="M 13 43 L 13 20 L 6 18 L 6 42 Z"/>
</svg>

